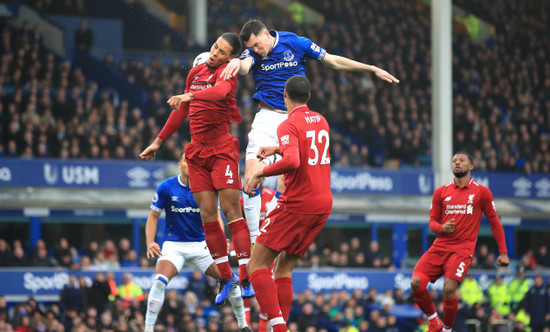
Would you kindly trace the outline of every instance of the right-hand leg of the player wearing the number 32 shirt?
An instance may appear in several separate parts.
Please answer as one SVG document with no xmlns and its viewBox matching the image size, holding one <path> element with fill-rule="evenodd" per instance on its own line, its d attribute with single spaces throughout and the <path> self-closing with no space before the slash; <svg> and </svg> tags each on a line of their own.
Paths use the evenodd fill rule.
<svg viewBox="0 0 550 332">
<path fill-rule="evenodd" d="M 273 278 L 277 286 L 279 306 L 281 307 L 281 313 L 285 321 L 288 320 L 290 306 L 294 296 L 292 290 L 292 270 L 296 267 L 299 259 L 300 256 L 289 254 L 284 251 L 275 259 Z"/>
</svg>

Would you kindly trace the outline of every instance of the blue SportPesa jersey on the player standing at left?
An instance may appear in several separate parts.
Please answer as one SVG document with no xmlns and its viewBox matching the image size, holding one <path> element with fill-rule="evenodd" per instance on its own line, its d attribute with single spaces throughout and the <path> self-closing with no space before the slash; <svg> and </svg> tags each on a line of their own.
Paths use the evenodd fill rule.
<svg viewBox="0 0 550 332">
<path fill-rule="evenodd" d="M 191 189 L 174 176 L 161 182 L 151 203 L 151 210 L 166 212 L 165 241 L 204 241 L 199 206 Z"/>
</svg>

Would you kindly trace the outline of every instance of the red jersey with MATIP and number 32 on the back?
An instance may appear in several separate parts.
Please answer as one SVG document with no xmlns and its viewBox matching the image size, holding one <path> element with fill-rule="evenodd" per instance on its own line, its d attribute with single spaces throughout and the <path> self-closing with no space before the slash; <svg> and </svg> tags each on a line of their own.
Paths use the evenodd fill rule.
<svg viewBox="0 0 550 332">
<path fill-rule="evenodd" d="M 279 204 L 286 211 L 298 214 L 332 211 L 329 133 L 327 120 L 306 105 L 292 109 L 288 119 L 277 128 L 283 158 L 290 147 L 298 147 L 300 159 L 298 168 L 284 174 L 286 189 L 279 197 Z"/>
</svg>

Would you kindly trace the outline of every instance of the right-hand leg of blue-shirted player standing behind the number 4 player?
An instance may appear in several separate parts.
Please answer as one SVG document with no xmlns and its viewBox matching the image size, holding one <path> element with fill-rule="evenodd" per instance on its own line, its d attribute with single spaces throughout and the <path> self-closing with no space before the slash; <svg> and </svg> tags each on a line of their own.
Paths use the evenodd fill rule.
<svg viewBox="0 0 550 332">
<path fill-rule="evenodd" d="M 210 252 L 207 248 L 205 249 L 204 244 L 204 242 L 197 244 L 196 249 L 193 250 L 193 257 L 189 258 L 189 262 L 207 276 L 220 280 L 221 276 L 218 265 L 214 263 L 212 257 L 210 256 Z M 229 294 L 229 303 L 231 303 L 231 307 L 233 308 L 239 329 L 242 332 L 251 331 L 246 320 L 244 303 L 239 287 L 233 287 L 231 290 Z"/>
</svg>

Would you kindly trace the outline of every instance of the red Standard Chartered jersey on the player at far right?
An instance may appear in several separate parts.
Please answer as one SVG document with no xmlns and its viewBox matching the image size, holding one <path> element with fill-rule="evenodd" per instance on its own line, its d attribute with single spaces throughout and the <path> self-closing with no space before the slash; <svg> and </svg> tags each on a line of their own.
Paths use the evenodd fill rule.
<svg viewBox="0 0 550 332">
<path fill-rule="evenodd" d="M 455 231 L 439 233 L 432 248 L 443 251 L 466 250 L 471 254 L 475 251 L 481 215 L 491 223 L 493 236 L 497 240 L 501 253 L 506 252 L 506 244 L 502 225 L 489 188 L 470 179 L 464 187 L 459 187 L 454 181 L 435 190 L 430 208 L 430 222 L 441 222 L 444 225 L 454 219 Z"/>
</svg>

